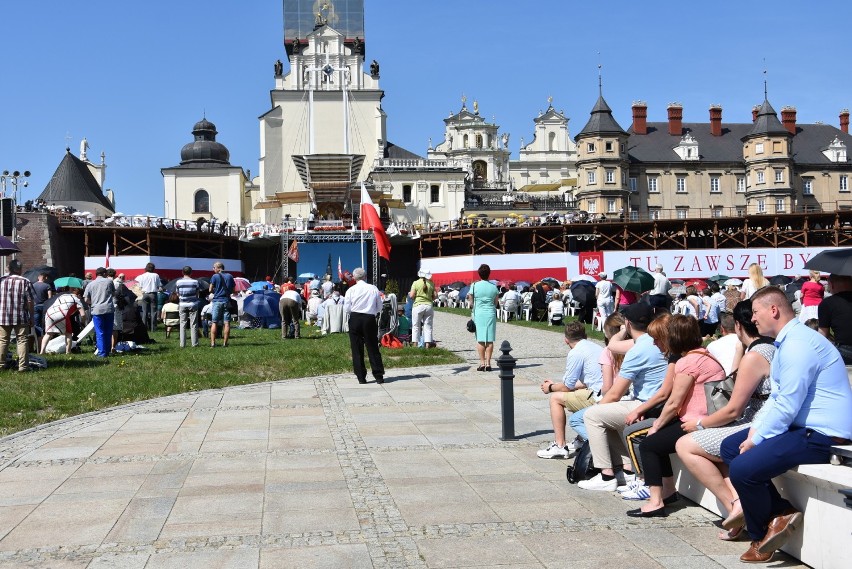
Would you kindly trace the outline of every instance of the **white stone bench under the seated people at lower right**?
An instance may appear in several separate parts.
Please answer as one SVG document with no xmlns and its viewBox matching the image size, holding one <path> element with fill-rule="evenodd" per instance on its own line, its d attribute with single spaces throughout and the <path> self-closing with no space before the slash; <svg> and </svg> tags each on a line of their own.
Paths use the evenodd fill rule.
<svg viewBox="0 0 852 569">
<path fill-rule="evenodd" d="M 775 479 L 781 495 L 804 512 L 804 523 L 783 551 L 815 569 L 846 569 L 852 546 L 852 509 L 840 490 L 852 488 L 852 446 L 837 447 L 846 464 L 806 464 Z M 672 455 L 678 492 L 703 508 L 722 516 L 716 497 Z"/>
</svg>

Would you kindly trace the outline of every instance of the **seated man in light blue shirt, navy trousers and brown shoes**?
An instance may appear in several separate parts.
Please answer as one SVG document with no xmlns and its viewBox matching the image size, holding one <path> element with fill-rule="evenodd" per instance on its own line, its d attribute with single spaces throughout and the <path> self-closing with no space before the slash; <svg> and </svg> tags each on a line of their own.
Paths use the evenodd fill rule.
<svg viewBox="0 0 852 569">
<path fill-rule="evenodd" d="M 852 389 L 837 349 L 802 325 L 781 289 L 764 287 L 752 300 L 758 331 L 775 337 L 772 394 L 751 428 L 722 443 L 731 482 L 752 542 L 741 561 L 772 559 L 802 514 L 783 499 L 772 478 L 800 464 L 827 463 L 831 447 L 852 439 Z M 727 526 L 726 526 L 727 527 Z"/>
</svg>

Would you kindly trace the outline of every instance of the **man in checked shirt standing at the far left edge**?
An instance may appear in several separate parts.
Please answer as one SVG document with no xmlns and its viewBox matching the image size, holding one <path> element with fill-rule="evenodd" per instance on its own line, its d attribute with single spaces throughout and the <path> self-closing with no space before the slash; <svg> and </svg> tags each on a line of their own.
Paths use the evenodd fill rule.
<svg viewBox="0 0 852 569">
<path fill-rule="evenodd" d="M 18 341 L 18 371 L 29 371 L 29 329 L 33 325 L 35 291 L 32 283 L 21 276 L 23 265 L 9 261 L 9 274 L 0 278 L 0 358 L 5 364 L 12 331 Z"/>
</svg>

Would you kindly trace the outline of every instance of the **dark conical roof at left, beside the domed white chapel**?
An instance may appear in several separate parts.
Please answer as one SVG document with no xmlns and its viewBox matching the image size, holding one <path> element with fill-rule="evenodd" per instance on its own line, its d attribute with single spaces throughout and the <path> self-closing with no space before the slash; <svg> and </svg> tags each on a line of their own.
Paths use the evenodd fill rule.
<svg viewBox="0 0 852 569">
<path fill-rule="evenodd" d="M 101 191 L 100 185 L 86 163 L 71 154 L 71 149 L 65 150 L 62 162 L 59 163 L 38 199 L 49 204 L 72 206 L 79 210 L 98 210 L 102 214 L 115 213 L 115 209 Z"/>
</svg>

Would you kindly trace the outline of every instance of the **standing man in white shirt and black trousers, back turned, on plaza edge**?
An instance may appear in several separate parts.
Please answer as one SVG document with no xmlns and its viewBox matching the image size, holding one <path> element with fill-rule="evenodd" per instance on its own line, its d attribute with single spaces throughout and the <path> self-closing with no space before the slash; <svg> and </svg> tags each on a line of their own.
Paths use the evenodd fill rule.
<svg viewBox="0 0 852 569">
<path fill-rule="evenodd" d="M 364 366 L 364 347 L 370 359 L 370 368 L 376 383 L 385 382 L 385 364 L 379 352 L 379 326 L 376 315 L 382 309 L 379 289 L 364 281 L 367 271 L 358 267 L 352 271 L 355 284 L 346 290 L 343 309 L 349 314 L 349 345 L 352 348 L 352 365 L 358 383 L 367 383 Z"/>
</svg>

